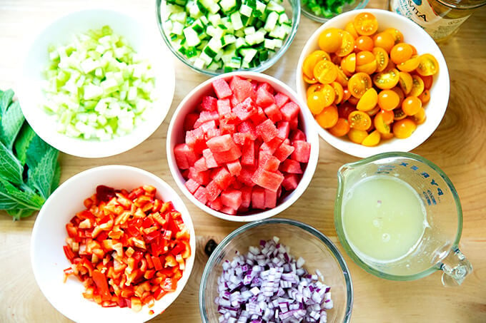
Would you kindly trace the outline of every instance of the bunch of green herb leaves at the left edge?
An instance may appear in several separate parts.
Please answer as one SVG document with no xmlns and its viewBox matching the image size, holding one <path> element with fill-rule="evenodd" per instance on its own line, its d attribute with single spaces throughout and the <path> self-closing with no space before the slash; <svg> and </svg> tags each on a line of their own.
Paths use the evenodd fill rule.
<svg viewBox="0 0 486 323">
<path fill-rule="evenodd" d="M 59 185 L 59 152 L 26 123 L 14 91 L 0 91 L 0 210 L 19 220 Z"/>
</svg>

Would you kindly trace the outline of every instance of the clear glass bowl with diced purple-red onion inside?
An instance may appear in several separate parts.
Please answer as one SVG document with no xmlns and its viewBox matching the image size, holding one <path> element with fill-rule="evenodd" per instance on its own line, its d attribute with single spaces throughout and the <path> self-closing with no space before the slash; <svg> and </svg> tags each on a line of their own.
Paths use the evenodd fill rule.
<svg viewBox="0 0 486 323">
<path fill-rule="evenodd" d="M 204 323 L 349 322 L 352 303 L 352 280 L 335 245 L 287 219 L 234 230 L 212 252 L 199 287 Z"/>
</svg>

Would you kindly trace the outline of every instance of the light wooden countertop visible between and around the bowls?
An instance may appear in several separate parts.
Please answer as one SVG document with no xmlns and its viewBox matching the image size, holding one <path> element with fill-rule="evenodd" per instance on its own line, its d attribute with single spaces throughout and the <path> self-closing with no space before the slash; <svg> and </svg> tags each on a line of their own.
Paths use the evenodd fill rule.
<svg viewBox="0 0 486 323">
<path fill-rule="evenodd" d="M 381 1 L 372 0 L 368 7 L 385 8 Z M 0 88 L 16 90 L 26 36 L 39 32 L 59 16 L 95 7 L 98 2 L 101 1 L 0 1 Z M 106 8 L 155 20 L 152 0 L 102 2 Z M 302 16 L 289 51 L 266 73 L 295 88 L 295 66 L 300 50 L 318 26 Z M 486 6 L 477 10 L 457 35 L 440 48 L 450 73 L 449 106 L 439 128 L 413 152 L 439 165 L 454 183 L 464 212 L 460 247 L 474 266 L 474 272 L 458 288 L 442 287 L 439 272 L 413 282 L 392 282 L 367 274 L 344 254 L 354 284 L 352 322 L 486 322 L 486 135 L 483 129 L 486 127 Z M 175 58 L 174 62 L 176 92 L 163 125 L 137 148 L 111 158 L 84 159 L 61 154 L 61 182 L 88 168 L 124 164 L 148 170 L 176 188 L 164 148 L 167 125 L 182 98 L 207 77 L 194 73 Z M 333 221 L 336 172 L 340 165 L 354 160 L 357 158 L 320 140 L 319 165 L 309 188 L 281 215 L 316 227 L 343 253 Z M 201 250 L 209 237 L 219 241 L 242 225 L 212 217 L 183 195 L 182 198 L 192 214 L 198 237 L 197 261 L 182 294 L 152 322 L 200 322 L 198 288 L 207 261 Z M 0 212 L 0 272 L 3 276 L 0 322 L 68 321 L 49 304 L 34 280 L 29 244 L 35 218 L 34 215 L 13 222 L 9 215 Z"/>
</svg>

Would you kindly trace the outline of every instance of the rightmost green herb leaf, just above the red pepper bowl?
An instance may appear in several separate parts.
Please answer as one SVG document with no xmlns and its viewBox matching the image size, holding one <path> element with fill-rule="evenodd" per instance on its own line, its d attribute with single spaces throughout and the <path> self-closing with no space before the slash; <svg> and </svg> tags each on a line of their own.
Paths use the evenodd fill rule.
<svg viewBox="0 0 486 323">
<path fill-rule="evenodd" d="M 35 188 L 43 198 L 49 198 L 52 193 L 52 179 L 56 173 L 57 156 L 59 152 L 52 147 L 46 151 L 35 168 L 29 168 L 27 184 Z"/>
</svg>

